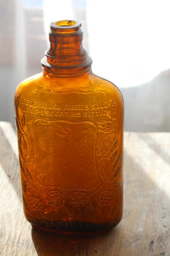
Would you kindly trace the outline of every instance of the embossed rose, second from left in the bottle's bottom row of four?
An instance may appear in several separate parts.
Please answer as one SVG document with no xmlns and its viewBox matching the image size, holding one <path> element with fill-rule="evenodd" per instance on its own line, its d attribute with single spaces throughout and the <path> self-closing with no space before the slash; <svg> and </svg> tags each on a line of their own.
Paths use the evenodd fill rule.
<svg viewBox="0 0 170 256">
<path fill-rule="evenodd" d="M 55 207 L 62 207 L 64 204 L 64 195 L 58 190 L 50 190 L 47 193 L 48 204 Z"/>
</svg>

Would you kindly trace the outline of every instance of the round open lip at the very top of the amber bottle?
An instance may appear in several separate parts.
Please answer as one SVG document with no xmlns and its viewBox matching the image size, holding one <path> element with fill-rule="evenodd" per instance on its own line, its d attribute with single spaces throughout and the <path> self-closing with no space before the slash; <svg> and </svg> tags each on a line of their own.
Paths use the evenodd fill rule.
<svg viewBox="0 0 170 256">
<path fill-rule="evenodd" d="M 57 33 L 72 33 L 80 27 L 81 23 L 76 20 L 57 20 L 50 24 L 50 29 Z"/>
</svg>

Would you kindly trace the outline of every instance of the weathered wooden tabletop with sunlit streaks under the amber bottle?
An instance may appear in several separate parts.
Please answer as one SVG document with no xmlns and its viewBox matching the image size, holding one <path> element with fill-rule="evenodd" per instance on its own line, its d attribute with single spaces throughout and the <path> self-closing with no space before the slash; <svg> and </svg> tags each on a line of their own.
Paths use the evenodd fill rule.
<svg viewBox="0 0 170 256">
<path fill-rule="evenodd" d="M 0 122 L 1 242 L 5 256 L 170 256 L 170 133 L 124 134 L 124 214 L 100 236 L 35 230 L 25 220 L 15 126 Z"/>
</svg>

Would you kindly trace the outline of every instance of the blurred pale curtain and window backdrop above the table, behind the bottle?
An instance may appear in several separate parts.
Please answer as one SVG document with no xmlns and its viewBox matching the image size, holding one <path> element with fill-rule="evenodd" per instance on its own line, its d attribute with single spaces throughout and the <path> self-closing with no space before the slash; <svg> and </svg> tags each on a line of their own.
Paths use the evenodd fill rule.
<svg viewBox="0 0 170 256">
<path fill-rule="evenodd" d="M 169 0 L 1 0 L 0 121 L 14 122 L 17 85 L 41 72 L 49 24 L 82 23 L 92 71 L 114 82 L 125 131 L 170 131 Z"/>
</svg>

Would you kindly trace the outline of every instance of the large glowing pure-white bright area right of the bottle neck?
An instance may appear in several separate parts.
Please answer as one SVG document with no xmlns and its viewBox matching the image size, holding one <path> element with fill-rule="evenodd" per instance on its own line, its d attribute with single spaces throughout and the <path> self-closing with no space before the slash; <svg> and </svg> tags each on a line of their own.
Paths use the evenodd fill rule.
<svg viewBox="0 0 170 256">
<path fill-rule="evenodd" d="M 86 0 L 93 70 L 120 87 L 170 68 L 169 0 Z"/>
</svg>

